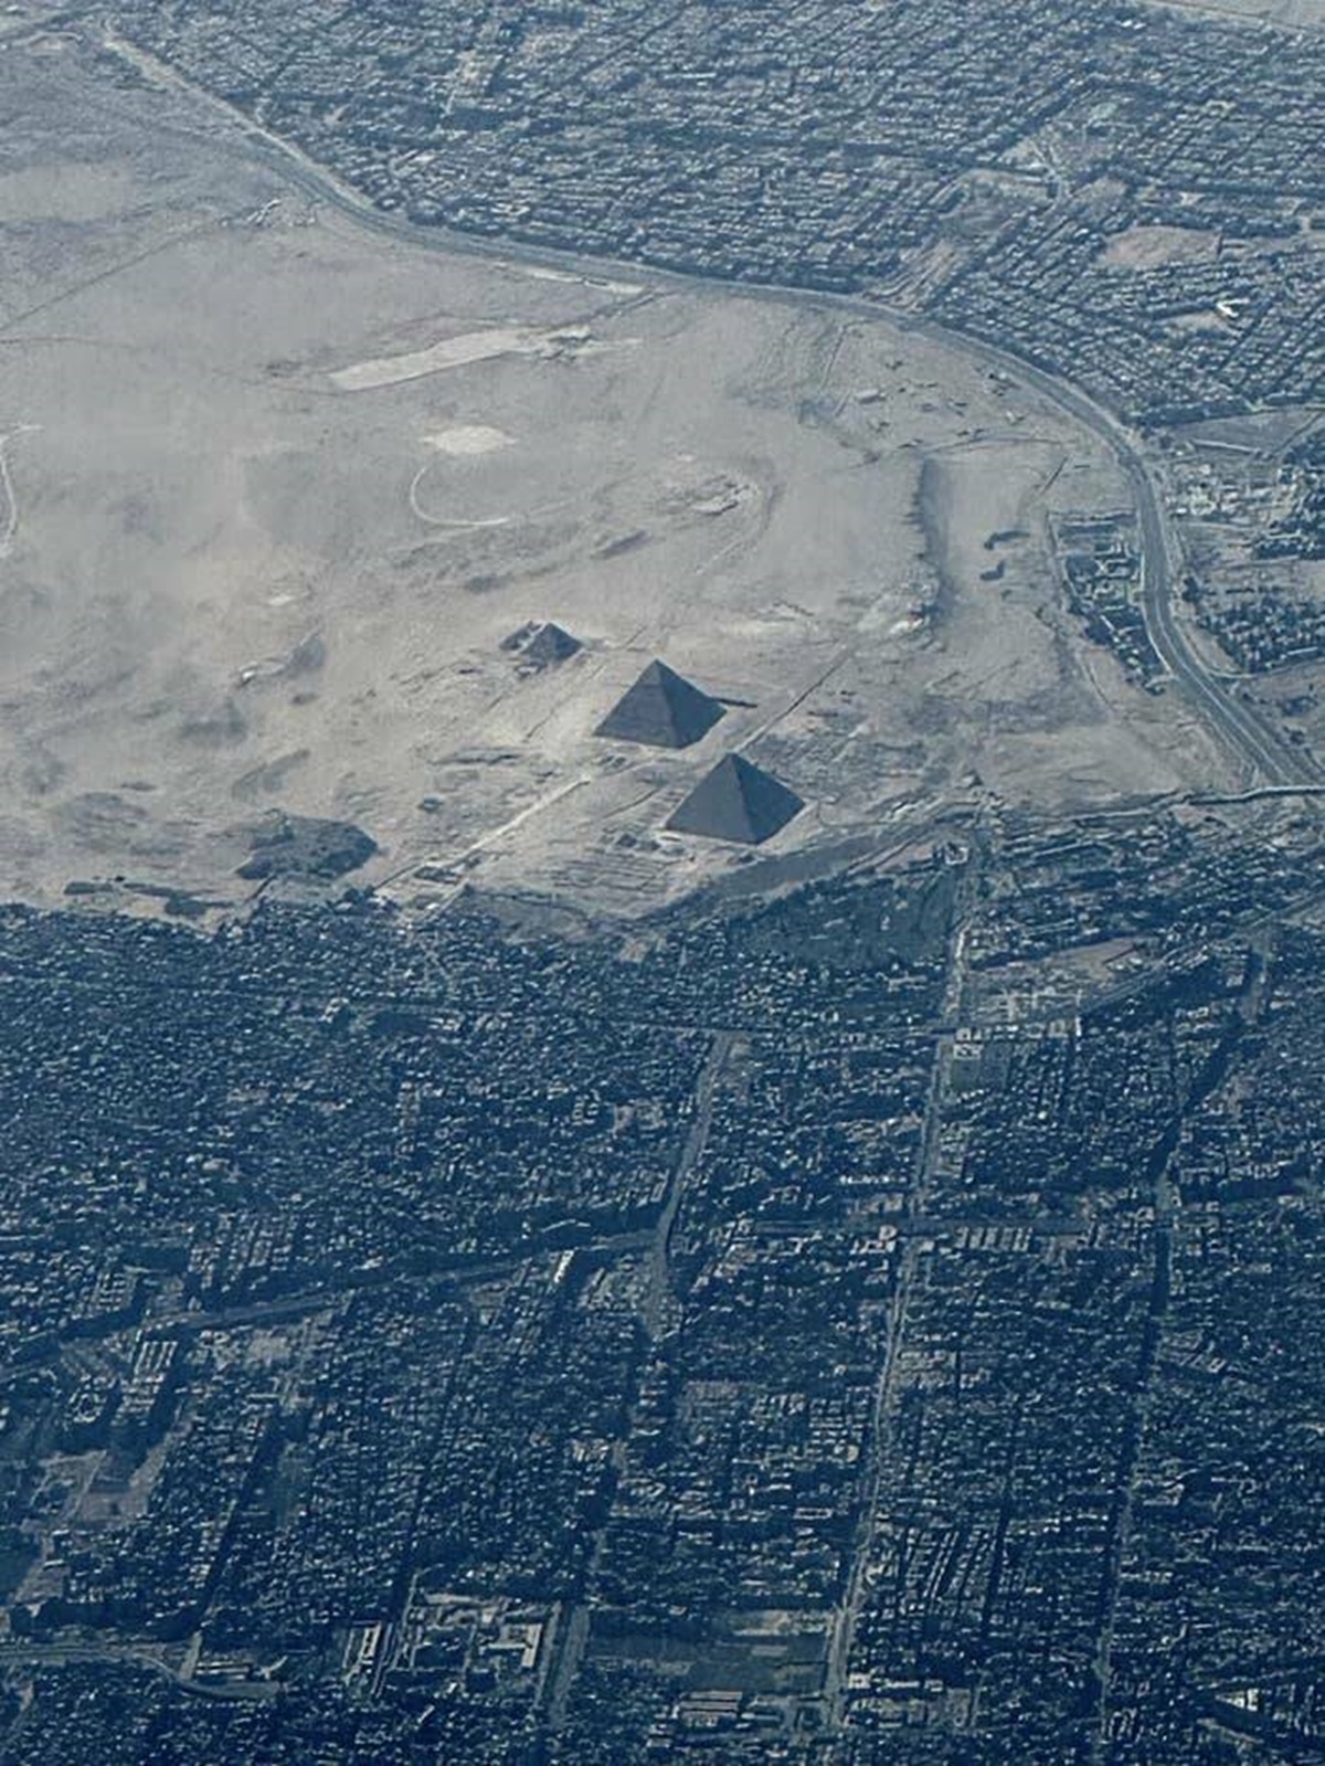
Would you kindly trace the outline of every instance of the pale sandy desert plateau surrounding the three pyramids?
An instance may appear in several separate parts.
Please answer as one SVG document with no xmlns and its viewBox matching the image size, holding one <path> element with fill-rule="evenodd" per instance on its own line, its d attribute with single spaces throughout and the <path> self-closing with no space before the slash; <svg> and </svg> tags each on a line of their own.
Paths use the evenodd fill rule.
<svg viewBox="0 0 1325 1766">
<path fill-rule="evenodd" d="M 237 899 L 279 807 L 408 901 L 638 911 L 740 862 L 659 832 L 733 747 L 806 798 L 791 855 L 1215 775 L 1062 615 L 1046 516 L 1113 468 L 968 357 L 383 240 L 74 44 L 0 94 L 5 894 Z M 521 671 L 548 618 L 583 650 Z M 654 655 L 730 701 L 682 754 L 592 733 Z"/>
</svg>

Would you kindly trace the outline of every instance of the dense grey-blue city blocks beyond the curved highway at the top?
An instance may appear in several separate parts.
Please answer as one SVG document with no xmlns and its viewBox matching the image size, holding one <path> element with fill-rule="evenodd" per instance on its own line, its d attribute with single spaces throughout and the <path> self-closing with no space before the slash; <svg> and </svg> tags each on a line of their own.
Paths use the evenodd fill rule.
<svg viewBox="0 0 1325 1766">
<path fill-rule="evenodd" d="M 1122 0 L 113 11 L 415 221 L 882 293 L 1148 422 L 1320 394 L 1311 34 Z"/>
</svg>

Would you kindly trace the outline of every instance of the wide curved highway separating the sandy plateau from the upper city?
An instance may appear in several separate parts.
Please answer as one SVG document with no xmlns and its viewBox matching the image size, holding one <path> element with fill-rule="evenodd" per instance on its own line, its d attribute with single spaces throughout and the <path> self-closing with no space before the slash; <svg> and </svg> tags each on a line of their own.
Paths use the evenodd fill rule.
<svg viewBox="0 0 1325 1766">
<path fill-rule="evenodd" d="M 526 263 L 541 263 L 553 268 L 569 270 L 594 281 L 604 275 L 638 277 L 648 275 L 654 286 L 671 286 L 682 290 L 712 290 L 716 277 L 685 275 L 677 270 L 662 270 L 650 263 L 622 261 L 615 258 L 578 258 L 569 251 L 553 247 L 523 245 L 519 240 L 482 238 L 470 233 L 456 233 L 442 226 L 417 226 L 387 210 L 376 208 L 366 196 L 344 184 L 336 173 L 311 159 L 293 141 L 263 129 L 246 117 L 233 104 L 219 99 L 205 87 L 187 79 L 170 64 L 155 55 L 140 49 L 136 44 L 118 37 L 110 26 L 102 26 L 104 46 L 132 62 L 140 72 L 157 83 L 189 92 L 210 109 L 223 113 L 238 125 L 246 143 L 254 154 L 272 166 L 283 178 L 295 184 L 314 201 L 327 203 L 352 215 L 360 226 L 373 228 L 390 238 L 408 240 L 424 249 L 463 253 L 472 258 L 509 260 L 512 256 Z M 1079 424 L 1099 436 L 1122 466 L 1136 502 L 1138 544 L 1141 553 L 1141 606 L 1145 613 L 1147 634 L 1164 668 L 1184 692 L 1192 710 L 1210 728 L 1230 756 L 1247 772 L 1249 784 L 1268 786 L 1314 786 L 1325 781 L 1321 770 L 1307 754 L 1291 749 L 1251 706 L 1238 696 L 1237 685 L 1230 691 L 1224 680 L 1212 671 L 1192 648 L 1182 630 L 1175 611 L 1175 560 L 1180 556 L 1178 544 L 1164 514 L 1164 507 L 1155 489 L 1154 477 L 1147 466 L 1141 447 L 1132 434 L 1086 392 L 1071 381 L 1035 367 L 1025 357 L 989 344 L 968 332 L 940 325 L 920 314 L 890 307 L 880 300 L 862 295 L 832 295 L 818 290 L 797 290 L 761 286 L 754 283 L 728 283 L 746 298 L 774 300 L 779 304 L 800 304 L 818 307 L 837 307 L 862 318 L 883 318 L 901 330 L 922 337 L 936 339 L 949 348 L 965 350 L 1007 374 L 1016 376 L 1025 385 L 1034 387 L 1042 397 L 1067 411 Z M 647 297 L 641 297 L 647 298 Z"/>
</svg>

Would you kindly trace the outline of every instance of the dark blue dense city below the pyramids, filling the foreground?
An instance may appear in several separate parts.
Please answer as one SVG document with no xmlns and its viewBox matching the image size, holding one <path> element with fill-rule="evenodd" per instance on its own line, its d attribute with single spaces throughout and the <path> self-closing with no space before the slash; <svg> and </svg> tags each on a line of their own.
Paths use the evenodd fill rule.
<svg viewBox="0 0 1325 1766">
<path fill-rule="evenodd" d="M 0 915 L 0 1761 L 1325 1745 L 1309 823 Z"/>
</svg>

